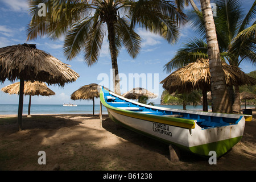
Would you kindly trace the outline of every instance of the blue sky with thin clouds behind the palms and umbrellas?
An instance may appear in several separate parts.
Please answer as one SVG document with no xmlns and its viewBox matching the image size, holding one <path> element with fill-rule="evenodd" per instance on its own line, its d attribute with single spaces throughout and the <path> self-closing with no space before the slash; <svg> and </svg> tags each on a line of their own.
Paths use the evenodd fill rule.
<svg viewBox="0 0 256 182">
<path fill-rule="evenodd" d="M 199 0 L 195 0 L 195 2 L 200 9 Z M 244 8 L 248 9 L 253 2 L 253 0 L 244 0 Z M 191 6 L 187 7 L 187 9 L 191 8 Z M 63 63 L 71 65 L 71 69 L 80 75 L 77 81 L 65 84 L 64 88 L 48 85 L 55 92 L 55 96 L 34 96 L 32 97 L 32 104 L 92 104 L 92 101 L 73 101 L 70 98 L 71 94 L 81 86 L 91 83 L 104 85 L 113 90 L 112 64 L 106 39 L 96 64 L 88 67 L 82 54 L 68 61 L 63 54 L 64 38 L 49 40 L 47 37 L 43 37 L 26 41 L 27 25 L 31 19 L 28 10 L 27 0 L 0 0 L 0 47 L 23 43 L 36 44 L 36 48 L 50 53 Z M 160 97 L 164 90 L 160 81 L 170 75 L 164 71 L 164 65 L 174 57 L 177 49 L 181 48 L 186 40 L 193 38 L 196 34 L 188 24 L 181 27 L 180 39 L 175 44 L 168 44 L 160 36 L 146 32 L 142 28 L 137 28 L 137 34 L 142 38 L 142 48 L 139 55 L 133 59 L 125 49 L 122 49 L 117 58 L 118 70 L 122 79 L 121 94 L 134 87 L 142 87 L 157 94 L 158 97 L 150 101 L 154 104 L 160 104 Z M 255 67 L 247 62 L 241 63 L 240 68 L 245 73 L 255 70 Z M 135 78 L 141 78 L 141 81 L 138 82 L 138 79 Z M 2 84 L 0 83 L 0 89 L 12 83 L 6 80 Z M 18 100 L 16 94 L 10 95 L 0 91 L 0 104 L 18 104 Z M 28 96 L 24 96 L 24 104 L 28 104 Z M 99 99 L 96 99 L 96 104 L 100 104 Z"/>
</svg>

